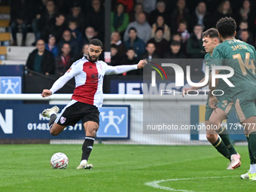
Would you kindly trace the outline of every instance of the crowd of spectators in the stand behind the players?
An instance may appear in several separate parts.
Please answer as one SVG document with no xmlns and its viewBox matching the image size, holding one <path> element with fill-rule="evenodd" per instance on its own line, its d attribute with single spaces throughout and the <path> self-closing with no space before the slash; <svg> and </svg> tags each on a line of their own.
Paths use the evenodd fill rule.
<svg viewBox="0 0 256 192">
<path fill-rule="evenodd" d="M 112 66 L 139 59 L 203 58 L 202 32 L 215 27 L 221 17 L 233 17 L 238 25 L 236 38 L 255 45 L 254 1 L 112 0 L 111 26 L 105 26 L 104 5 L 104 0 L 11 0 L 13 45 L 17 45 L 18 26 L 22 45 L 30 26 L 37 51 L 30 54 L 27 65 L 31 67 L 35 59 L 36 71 L 46 75 L 62 75 L 75 59 L 86 56 L 84 49 L 92 38 L 104 42 L 105 27 L 111 30 Z M 44 52 L 53 54 L 54 70 L 38 67 L 43 60 L 41 44 L 45 44 L 42 58 Z"/>
</svg>

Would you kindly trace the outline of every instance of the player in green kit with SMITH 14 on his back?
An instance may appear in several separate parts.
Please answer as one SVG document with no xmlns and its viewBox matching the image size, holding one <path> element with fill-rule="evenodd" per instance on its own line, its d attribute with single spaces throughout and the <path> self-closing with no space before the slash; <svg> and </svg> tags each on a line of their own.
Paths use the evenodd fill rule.
<svg viewBox="0 0 256 192">
<path fill-rule="evenodd" d="M 256 75 L 255 75 L 255 48 L 250 44 L 239 41 L 236 36 L 236 21 L 231 17 L 224 17 L 218 21 L 216 28 L 219 38 L 223 41 L 212 53 L 212 63 L 215 66 L 229 66 L 234 74 L 229 78 L 234 87 L 230 87 L 233 103 L 235 104 L 236 114 L 239 122 L 244 127 L 245 136 L 248 139 L 248 152 L 251 160 L 251 166 L 247 173 L 241 175 L 241 178 L 248 178 L 256 181 Z M 227 70 L 221 72 L 229 74 Z M 221 73 L 215 71 L 215 74 Z M 213 73 L 213 72 L 212 72 Z M 210 84 L 209 105 L 216 108 L 218 99 L 212 95 L 215 87 Z M 215 85 L 218 86 L 218 78 Z M 218 121 L 211 122 L 218 126 Z"/>
</svg>

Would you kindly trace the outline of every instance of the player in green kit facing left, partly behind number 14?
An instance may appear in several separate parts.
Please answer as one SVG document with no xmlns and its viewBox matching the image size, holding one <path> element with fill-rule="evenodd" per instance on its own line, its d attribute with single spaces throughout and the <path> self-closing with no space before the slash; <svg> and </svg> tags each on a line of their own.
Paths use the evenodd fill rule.
<svg viewBox="0 0 256 192">
<path fill-rule="evenodd" d="M 205 66 L 209 66 L 209 73 L 212 70 L 212 52 L 219 43 L 220 39 L 218 38 L 217 29 L 212 28 L 203 32 L 203 47 L 205 47 L 206 50 L 204 63 Z M 200 83 L 203 81 L 205 81 L 205 78 L 203 78 Z M 206 87 L 206 85 L 203 87 Z M 184 93 L 187 93 L 188 90 L 198 90 L 203 87 L 190 87 L 189 89 L 184 89 Z M 211 127 L 211 121 L 218 120 L 219 122 L 222 122 L 222 120 L 227 119 L 230 112 L 234 110 L 231 93 L 228 91 L 229 89 L 230 87 L 228 87 L 224 81 L 218 83 L 217 90 L 227 91 L 225 91 L 224 95 L 217 96 L 219 104 L 218 108 L 215 109 L 215 112 L 213 112 L 214 110 L 209 106 L 209 103 L 206 103 L 206 127 Z M 216 92 L 216 94 L 220 95 L 218 92 Z M 221 126 L 218 130 L 206 129 L 206 138 L 220 154 L 230 160 L 227 169 L 236 169 L 241 165 L 240 155 L 237 154 L 235 148 L 233 148 L 230 136 L 224 126 Z"/>
</svg>

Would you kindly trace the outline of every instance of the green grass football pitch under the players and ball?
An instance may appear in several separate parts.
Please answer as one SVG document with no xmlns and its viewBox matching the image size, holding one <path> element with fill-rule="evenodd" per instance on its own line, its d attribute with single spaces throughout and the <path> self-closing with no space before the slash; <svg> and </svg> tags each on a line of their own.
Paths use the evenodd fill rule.
<svg viewBox="0 0 256 192">
<path fill-rule="evenodd" d="M 247 147 L 236 151 L 242 166 L 226 170 L 212 146 L 94 145 L 88 170 L 76 169 L 81 145 L 0 145 L 0 191 L 254 191 L 256 181 L 239 177 Z M 56 152 L 69 157 L 66 169 L 50 166 Z"/>
</svg>

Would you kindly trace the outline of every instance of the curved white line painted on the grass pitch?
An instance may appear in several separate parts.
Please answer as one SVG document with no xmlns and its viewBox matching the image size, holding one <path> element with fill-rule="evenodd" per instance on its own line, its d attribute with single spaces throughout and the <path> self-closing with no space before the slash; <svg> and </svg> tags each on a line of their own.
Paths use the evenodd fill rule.
<svg viewBox="0 0 256 192">
<path fill-rule="evenodd" d="M 165 187 L 165 186 L 159 185 L 159 183 L 165 182 L 165 181 L 183 181 L 183 180 L 191 180 L 191 179 L 230 178 L 230 177 L 236 177 L 236 176 L 203 177 L 203 178 L 171 178 L 171 179 L 163 179 L 163 180 L 158 180 L 158 181 L 146 182 L 145 185 L 148 185 L 148 186 L 154 187 L 154 188 L 158 188 L 158 189 L 163 189 L 163 190 L 172 190 L 172 191 L 181 191 L 181 192 L 195 192 L 194 190 L 182 190 L 182 189 L 174 189 L 174 188 L 171 188 L 171 187 Z"/>
</svg>

